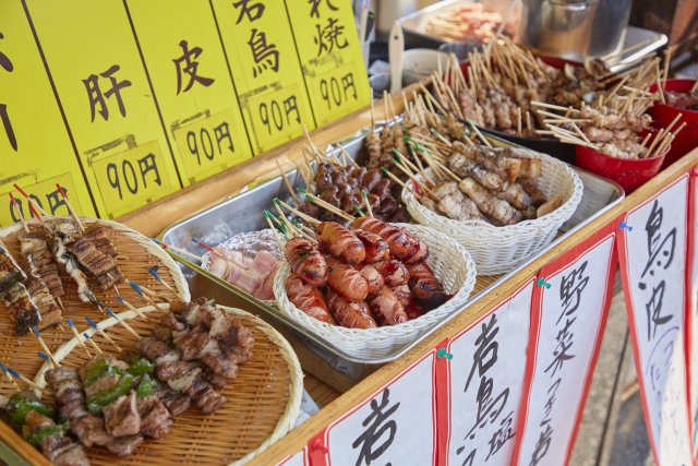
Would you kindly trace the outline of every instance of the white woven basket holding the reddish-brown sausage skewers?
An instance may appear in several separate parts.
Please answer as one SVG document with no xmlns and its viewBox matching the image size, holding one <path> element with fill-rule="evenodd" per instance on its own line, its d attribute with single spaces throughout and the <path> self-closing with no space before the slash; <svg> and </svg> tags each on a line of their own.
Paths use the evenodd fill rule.
<svg viewBox="0 0 698 466">
<path fill-rule="evenodd" d="M 447 315 L 460 311 L 476 285 L 476 264 L 468 251 L 455 240 L 431 228 L 420 225 L 396 225 L 416 234 L 429 246 L 431 253 L 426 263 L 446 292 L 454 295 L 443 306 L 402 324 L 377 328 L 347 328 L 320 322 L 308 316 L 288 299 L 285 283 L 290 267 L 285 261 L 274 280 L 274 296 L 279 311 L 300 321 L 309 332 L 322 336 L 346 354 L 358 358 L 387 357 Z"/>
</svg>

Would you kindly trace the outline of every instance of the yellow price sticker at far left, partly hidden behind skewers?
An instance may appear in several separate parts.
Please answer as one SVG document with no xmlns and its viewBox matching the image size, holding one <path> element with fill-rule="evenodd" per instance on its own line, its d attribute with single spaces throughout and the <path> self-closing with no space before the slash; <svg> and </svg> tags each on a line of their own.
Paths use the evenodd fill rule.
<svg viewBox="0 0 698 466">
<path fill-rule="evenodd" d="M 70 215 L 68 205 L 56 184 L 60 184 L 60 187 L 63 188 L 75 212 L 82 213 L 92 210 L 91 205 L 87 205 L 87 210 L 85 210 L 80 195 L 76 194 L 80 192 L 80 188 L 84 188 L 85 184 L 82 177 L 79 177 L 75 181 L 71 174 L 62 174 L 35 183 L 31 183 L 29 180 L 17 181 L 22 190 L 36 201 L 49 215 Z M 0 187 L 0 200 L 2 200 L 0 203 L 0 226 L 17 223 L 21 217 L 25 219 L 34 217 L 34 214 L 29 210 L 28 201 L 22 198 L 12 184 L 13 183 L 8 183 Z M 10 193 L 14 195 L 17 208 L 13 208 Z"/>
</svg>

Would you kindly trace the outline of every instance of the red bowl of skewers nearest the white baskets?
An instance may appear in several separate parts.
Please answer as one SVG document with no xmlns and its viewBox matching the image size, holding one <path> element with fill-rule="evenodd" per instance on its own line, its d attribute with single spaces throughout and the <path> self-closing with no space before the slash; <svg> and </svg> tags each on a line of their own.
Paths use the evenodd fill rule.
<svg viewBox="0 0 698 466">
<path fill-rule="evenodd" d="M 576 165 L 592 174 L 612 179 L 623 187 L 626 194 L 630 194 L 660 172 L 669 151 L 671 151 L 671 146 L 652 158 L 626 159 L 611 157 L 583 145 L 578 145 Z"/>
</svg>

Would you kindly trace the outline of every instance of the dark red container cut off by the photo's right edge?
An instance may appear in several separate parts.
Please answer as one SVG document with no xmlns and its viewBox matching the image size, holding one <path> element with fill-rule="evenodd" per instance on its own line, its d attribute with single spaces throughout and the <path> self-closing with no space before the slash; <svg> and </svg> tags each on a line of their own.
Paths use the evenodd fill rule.
<svg viewBox="0 0 698 466">
<path fill-rule="evenodd" d="M 666 80 L 665 89 L 687 93 L 690 91 L 695 82 L 695 80 Z M 650 92 L 657 92 L 657 84 L 653 84 L 650 87 Z M 663 168 L 670 166 L 694 148 L 698 147 L 698 111 L 685 110 L 683 108 L 662 104 L 661 101 L 655 101 L 648 110 L 648 113 L 652 117 L 652 126 L 657 129 L 666 128 L 679 113 L 682 117 L 681 120 L 678 120 L 678 123 L 674 126 L 674 130 L 676 130 L 676 128 L 678 128 L 683 122 L 686 123 L 686 128 L 678 133 L 672 143 L 672 150 L 666 154 Z"/>
</svg>

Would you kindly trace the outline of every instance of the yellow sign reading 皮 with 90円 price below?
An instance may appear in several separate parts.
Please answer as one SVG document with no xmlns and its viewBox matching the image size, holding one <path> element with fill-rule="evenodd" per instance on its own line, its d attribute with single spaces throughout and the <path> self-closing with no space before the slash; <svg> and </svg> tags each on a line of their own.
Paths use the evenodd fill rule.
<svg viewBox="0 0 698 466">
<path fill-rule="evenodd" d="M 176 141 L 182 182 L 252 157 L 210 4 L 128 0 L 127 5 L 165 128 Z"/>
</svg>

